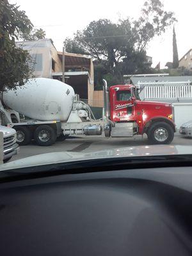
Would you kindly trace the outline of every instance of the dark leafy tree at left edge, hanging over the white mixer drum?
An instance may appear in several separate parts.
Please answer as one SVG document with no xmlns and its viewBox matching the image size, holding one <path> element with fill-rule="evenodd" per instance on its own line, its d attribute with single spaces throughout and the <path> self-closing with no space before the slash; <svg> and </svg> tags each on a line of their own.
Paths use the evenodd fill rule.
<svg viewBox="0 0 192 256">
<path fill-rule="evenodd" d="M 0 1 L 0 91 L 24 84 L 31 77 L 28 51 L 17 48 L 18 33 L 29 33 L 33 24 L 18 6 Z"/>
</svg>

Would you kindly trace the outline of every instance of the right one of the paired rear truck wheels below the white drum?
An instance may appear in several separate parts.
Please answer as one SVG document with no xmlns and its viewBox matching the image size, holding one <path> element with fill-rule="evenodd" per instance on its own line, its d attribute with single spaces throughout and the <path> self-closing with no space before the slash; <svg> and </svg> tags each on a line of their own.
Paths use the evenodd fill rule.
<svg viewBox="0 0 192 256">
<path fill-rule="evenodd" d="M 40 125 L 34 132 L 34 140 L 37 145 L 51 146 L 56 141 L 56 132 L 49 125 Z"/>
</svg>

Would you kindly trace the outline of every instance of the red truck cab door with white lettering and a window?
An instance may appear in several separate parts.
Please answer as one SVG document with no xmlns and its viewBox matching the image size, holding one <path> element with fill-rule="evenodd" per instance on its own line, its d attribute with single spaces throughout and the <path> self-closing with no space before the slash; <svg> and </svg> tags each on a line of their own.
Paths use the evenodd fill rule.
<svg viewBox="0 0 192 256">
<path fill-rule="evenodd" d="M 132 98 L 131 90 L 116 90 L 114 95 L 115 122 L 135 120 L 135 100 Z"/>
</svg>

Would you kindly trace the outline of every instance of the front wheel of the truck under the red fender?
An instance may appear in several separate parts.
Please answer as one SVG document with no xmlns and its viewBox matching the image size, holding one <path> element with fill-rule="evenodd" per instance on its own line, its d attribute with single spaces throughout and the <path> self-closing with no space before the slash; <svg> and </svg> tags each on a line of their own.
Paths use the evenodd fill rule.
<svg viewBox="0 0 192 256">
<path fill-rule="evenodd" d="M 155 122 L 149 127 L 147 137 L 150 144 L 170 144 L 174 138 L 173 127 L 166 122 Z"/>
</svg>

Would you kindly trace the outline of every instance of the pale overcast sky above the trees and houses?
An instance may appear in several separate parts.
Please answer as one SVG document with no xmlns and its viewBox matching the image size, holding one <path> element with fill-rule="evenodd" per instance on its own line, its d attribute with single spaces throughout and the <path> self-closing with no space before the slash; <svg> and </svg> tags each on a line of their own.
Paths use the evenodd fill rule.
<svg viewBox="0 0 192 256">
<path fill-rule="evenodd" d="M 145 0 L 10 0 L 17 3 L 20 10 L 26 11 L 35 28 L 42 28 L 46 38 L 52 38 L 58 51 L 63 41 L 77 30 L 84 29 L 92 20 L 110 19 L 116 22 L 120 17 L 137 19 Z M 175 23 L 179 59 L 192 48 L 191 0 L 163 0 L 164 10 L 175 12 Z M 173 27 L 161 36 L 156 36 L 147 47 L 148 56 L 152 56 L 152 67 L 159 61 L 161 68 L 172 61 Z"/>
</svg>

